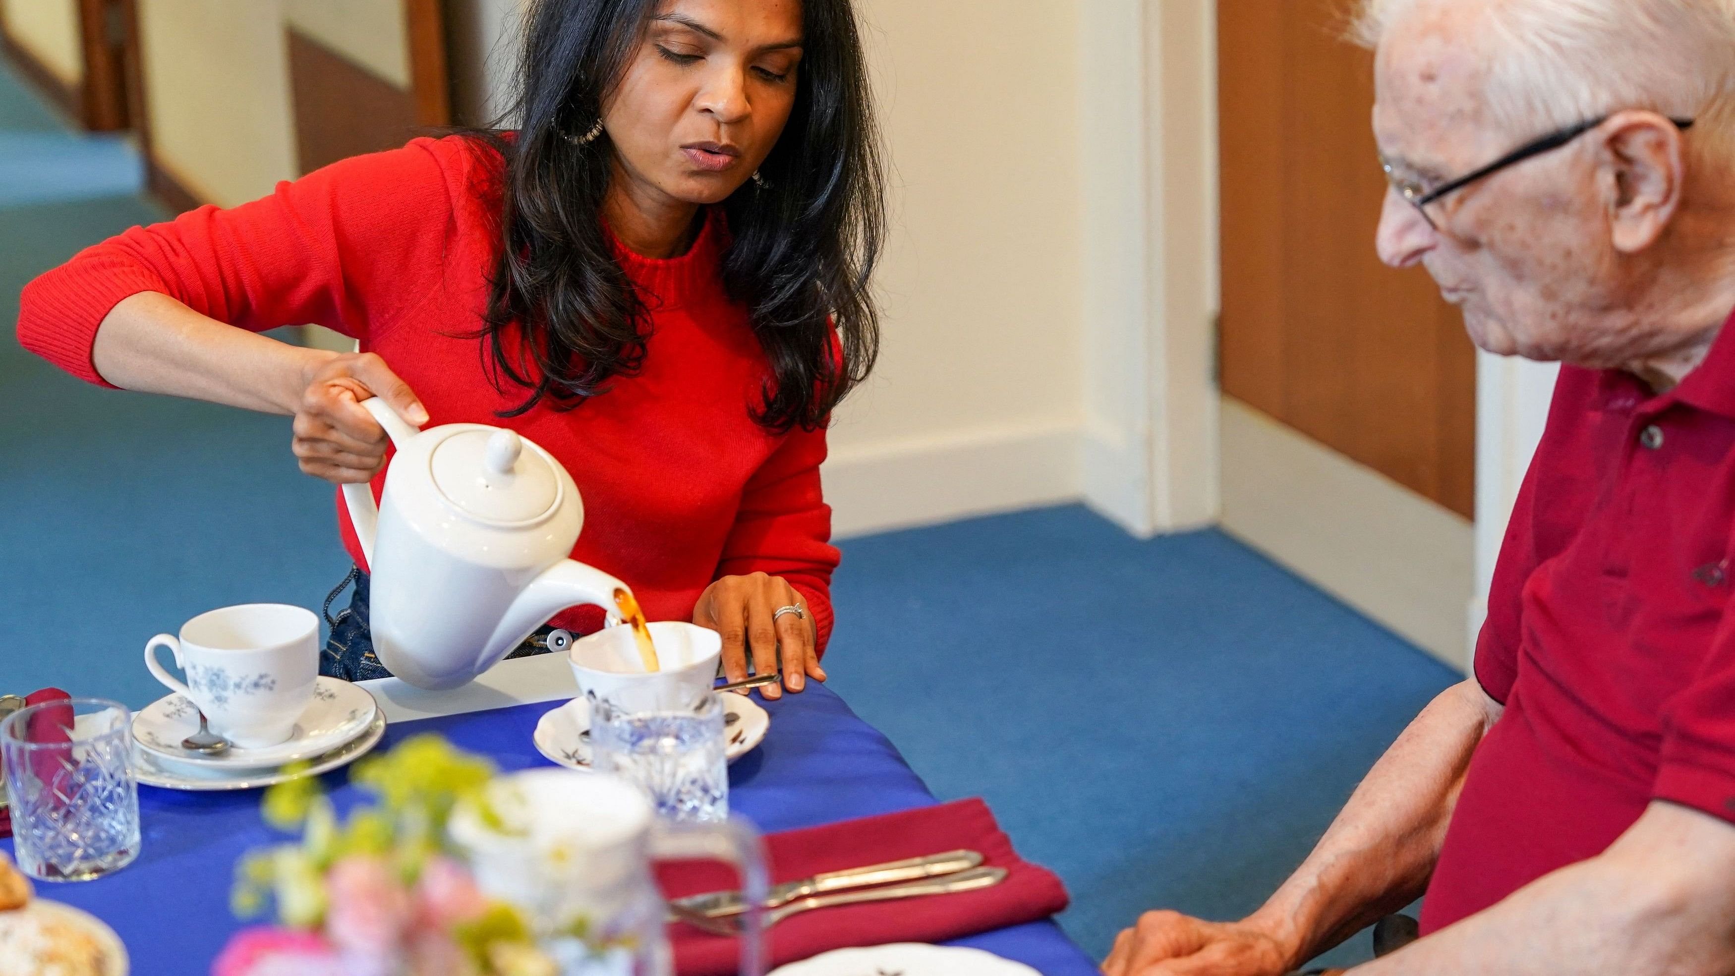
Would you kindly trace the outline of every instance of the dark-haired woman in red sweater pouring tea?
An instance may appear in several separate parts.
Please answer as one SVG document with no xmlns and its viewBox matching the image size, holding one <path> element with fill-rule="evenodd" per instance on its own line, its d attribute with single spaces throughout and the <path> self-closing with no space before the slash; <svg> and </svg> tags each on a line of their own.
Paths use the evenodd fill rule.
<svg viewBox="0 0 1735 976">
<path fill-rule="evenodd" d="M 878 336 L 850 2 L 547 0 L 526 28 L 515 132 L 127 231 L 24 290 L 19 340 L 94 383 L 293 414 L 304 472 L 376 492 L 359 400 L 519 430 L 578 482 L 573 558 L 722 631 L 730 678 L 751 657 L 798 692 L 824 680 L 838 562 L 824 425 Z M 302 322 L 359 350 L 255 335 Z M 375 678 L 338 522 L 363 572 L 321 669 Z M 588 610 L 553 622 L 593 631 Z"/>
</svg>

